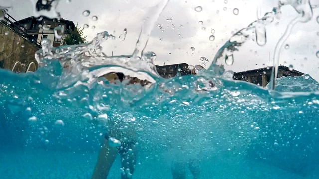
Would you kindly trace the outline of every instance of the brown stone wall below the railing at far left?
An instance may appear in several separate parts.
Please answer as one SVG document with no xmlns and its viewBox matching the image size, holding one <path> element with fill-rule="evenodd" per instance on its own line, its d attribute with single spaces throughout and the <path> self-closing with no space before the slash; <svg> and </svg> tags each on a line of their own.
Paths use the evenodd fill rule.
<svg viewBox="0 0 319 179">
<path fill-rule="evenodd" d="M 30 71 L 38 68 L 37 61 L 34 58 L 35 52 L 39 50 L 37 46 L 25 40 L 18 33 L 11 30 L 0 22 L 0 67 L 16 72 L 25 72 L 31 62 L 35 63 L 31 66 Z"/>
</svg>

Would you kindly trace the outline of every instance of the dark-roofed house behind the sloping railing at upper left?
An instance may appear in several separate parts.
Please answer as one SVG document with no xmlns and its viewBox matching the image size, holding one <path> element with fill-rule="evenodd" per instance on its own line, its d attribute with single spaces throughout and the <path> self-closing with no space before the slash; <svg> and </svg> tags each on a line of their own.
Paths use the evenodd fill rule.
<svg viewBox="0 0 319 179">
<path fill-rule="evenodd" d="M 62 38 L 56 38 L 54 34 L 54 28 L 60 27 L 63 30 Z M 62 39 L 65 35 L 70 35 L 71 31 L 76 30 L 76 26 L 72 21 L 65 20 L 61 18 L 58 19 L 49 19 L 46 17 L 41 17 L 40 19 L 33 16 L 19 20 L 11 24 L 11 28 L 19 28 L 16 30 L 23 31 L 28 36 L 31 36 L 32 39 L 35 39 L 35 43 L 41 43 L 42 39 L 51 40 L 53 47 L 62 45 Z M 83 42 L 82 42 L 83 43 Z"/>
</svg>

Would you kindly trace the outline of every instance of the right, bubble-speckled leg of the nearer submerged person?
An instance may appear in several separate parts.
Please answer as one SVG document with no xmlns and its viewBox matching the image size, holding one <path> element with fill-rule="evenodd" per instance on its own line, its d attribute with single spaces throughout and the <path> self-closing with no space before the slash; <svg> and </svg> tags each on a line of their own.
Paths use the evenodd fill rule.
<svg viewBox="0 0 319 179">
<path fill-rule="evenodd" d="M 136 164 L 136 153 L 135 142 L 130 142 L 120 147 L 121 165 L 123 169 L 121 179 L 132 178 Z"/>
</svg>

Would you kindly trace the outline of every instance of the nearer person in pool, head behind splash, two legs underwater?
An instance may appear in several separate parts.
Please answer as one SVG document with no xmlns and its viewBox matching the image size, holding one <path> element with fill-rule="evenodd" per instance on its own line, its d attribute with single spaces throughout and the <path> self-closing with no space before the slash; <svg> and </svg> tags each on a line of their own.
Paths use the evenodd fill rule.
<svg viewBox="0 0 319 179">
<path fill-rule="evenodd" d="M 128 80 L 126 85 L 140 84 L 144 87 L 152 84 L 147 80 L 125 76 L 119 72 L 108 73 L 101 77 L 106 78 L 110 83 L 117 81 L 123 83 L 124 80 Z M 120 126 L 111 124 L 109 131 L 105 134 L 92 179 L 106 179 L 117 154 L 121 156 L 121 179 L 132 178 L 137 153 L 136 133 L 134 127 L 128 127 L 125 130 L 119 130 L 118 127 Z"/>
</svg>

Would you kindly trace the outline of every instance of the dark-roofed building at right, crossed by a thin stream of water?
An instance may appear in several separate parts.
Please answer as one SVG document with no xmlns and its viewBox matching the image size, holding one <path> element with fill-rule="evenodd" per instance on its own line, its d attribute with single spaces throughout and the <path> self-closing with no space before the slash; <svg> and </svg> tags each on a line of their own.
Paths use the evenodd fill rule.
<svg viewBox="0 0 319 179">
<path fill-rule="evenodd" d="M 265 67 L 255 70 L 248 70 L 243 72 L 234 73 L 234 80 L 243 80 L 256 85 L 265 87 L 271 78 L 273 67 Z M 287 76 L 302 76 L 304 73 L 297 70 L 289 70 L 288 67 L 280 65 L 278 66 L 277 78 L 287 77 Z"/>
</svg>

